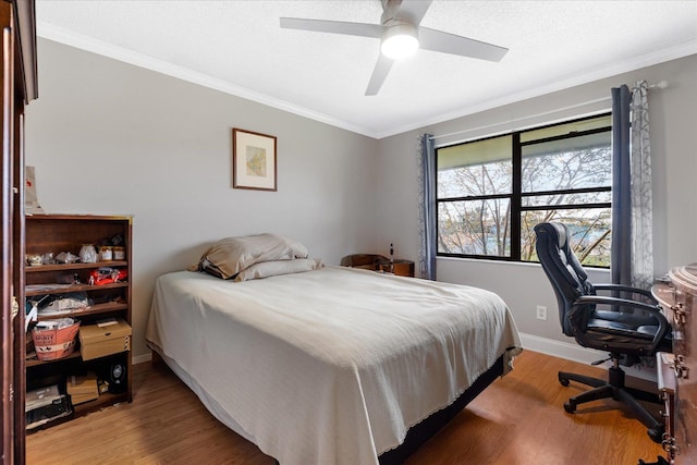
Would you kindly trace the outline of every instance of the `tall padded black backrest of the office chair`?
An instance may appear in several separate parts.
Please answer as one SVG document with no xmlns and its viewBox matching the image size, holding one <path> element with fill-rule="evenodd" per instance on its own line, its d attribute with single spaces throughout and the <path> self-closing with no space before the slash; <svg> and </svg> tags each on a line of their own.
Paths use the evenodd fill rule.
<svg viewBox="0 0 697 465">
<path fill-rule="evenodd" d="M 562 331 L 574 336 L 567 311 L 578 296 L 596 293 L 592 283 L 571 248 L 565 224 L 540 223 L 535 227 L 535 234 L 537 256 L 557 295 Z"/>
</svg>

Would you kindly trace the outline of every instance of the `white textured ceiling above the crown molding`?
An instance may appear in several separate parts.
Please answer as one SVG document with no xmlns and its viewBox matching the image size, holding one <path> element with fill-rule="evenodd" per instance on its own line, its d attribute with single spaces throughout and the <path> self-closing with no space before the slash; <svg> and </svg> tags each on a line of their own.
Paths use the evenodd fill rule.
<svg viewBox="0 0 697 465">
<path fill-rule="evenodd" d="M 697 0 L 435 0 L 423 26 L 509 53 L 419 50 L 366 97 L 378 39 L 281 29 L 279 17 L 379 23 L 378 0 L 36 3 L 41 37 L 376 138 L 697 53 Z"/>
</svg>

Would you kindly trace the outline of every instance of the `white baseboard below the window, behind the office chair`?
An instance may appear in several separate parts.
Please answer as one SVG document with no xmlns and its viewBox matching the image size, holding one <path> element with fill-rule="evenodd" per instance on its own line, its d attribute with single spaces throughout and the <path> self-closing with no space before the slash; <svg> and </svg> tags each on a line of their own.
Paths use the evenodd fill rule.
<svg viewBox="0 0 697 465">
<path fill-rule="evenodd" d="M 540 338 L 539 335 L 526 334 L 524 332 L 519 334 L 523 348 L 540 352 L 553 357 L 564 358 L 579 364 L 590 364 L 591 362 L 601 360 L 608 357 L 607 352 L 596 351 L 595 348 L 582 347 L 577 344 Z M 599 366 L 609 368 L 611 364 L 610 362 L 606 362 Z M 656 381 L 658 379 L 656 368 L 653 367 L 633 366 L 622 367 L 622 369 L 624 369 L 629 377 L 647 379 L 650 381 Z"/>
</svg>

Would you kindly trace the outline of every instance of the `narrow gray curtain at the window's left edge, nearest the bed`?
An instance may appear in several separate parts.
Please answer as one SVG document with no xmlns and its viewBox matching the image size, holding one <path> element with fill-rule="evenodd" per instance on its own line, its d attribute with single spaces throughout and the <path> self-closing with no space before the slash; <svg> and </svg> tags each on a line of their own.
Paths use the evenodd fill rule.
<svg viewBox="0 0 697 465">
<path fill-rule="evenodd" d="M 430 134 L 418 137 L 418 274 L 436 280 L 436 144 Z"/>
</svg>

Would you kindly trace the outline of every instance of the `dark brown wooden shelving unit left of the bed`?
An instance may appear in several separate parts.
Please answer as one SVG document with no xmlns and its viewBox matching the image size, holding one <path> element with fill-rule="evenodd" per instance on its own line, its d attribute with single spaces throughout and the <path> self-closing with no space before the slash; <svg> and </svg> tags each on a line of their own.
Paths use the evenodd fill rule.
<svg viewBox="0 0 697 465">
<path fill-rule="evenodd" d="M 131 264 L 132 264 L 132 217 L 119 216 L 88 216 L 88 215 L 36 215 L 26 217 L 26 255 L 41 255 L 60 253 L 78 255 L 84 244 L 109 244 L 114 237 L 120 237 L 124 247 L 123 260 L 97 261 L 94 264 L 47 264 L 24 267 L 25 298 L 38 299 L 44 295 L 61 295 L 69 293 L 85 293 L 91 303 L 88 307 L 61 311 L 50 316 L 39 316 L 38 320 L 56 318 L 74 318 L 80 320 L 81 327 L 93 325 L 97 320 L 115 317 L 131 325 Z M 125 269 L 127 281 L 101 285 L 90 285 L 90 273 L 100 268 L 110 267 Z M 70 278 L 70 280 L 68 280 Z M 59 284 L 72 281 L 72 284 Z M 30 329 L 29 329 L 30 331 Z M 27 333 L 27 338 L 30 338 Z M 131 383 L 131 352 L 124 351 L 106 357 L 83 360 L 80 346 L 70 356 L 56 360 L 39 360 L 27 358 L 26 387 L 27 390 L 42 386 L 64 386 L 66 379 L 73 375 L 84 375 L 95 371 L 106 372 L 113 364 L 126 368 L 126 384 L 121 392 L 105 392 L 97 400 L 73 405 L 73 414 L 59 418 L 41 428 L 58 425 L 76 416 L 132 401 Z"/>
</svg>

